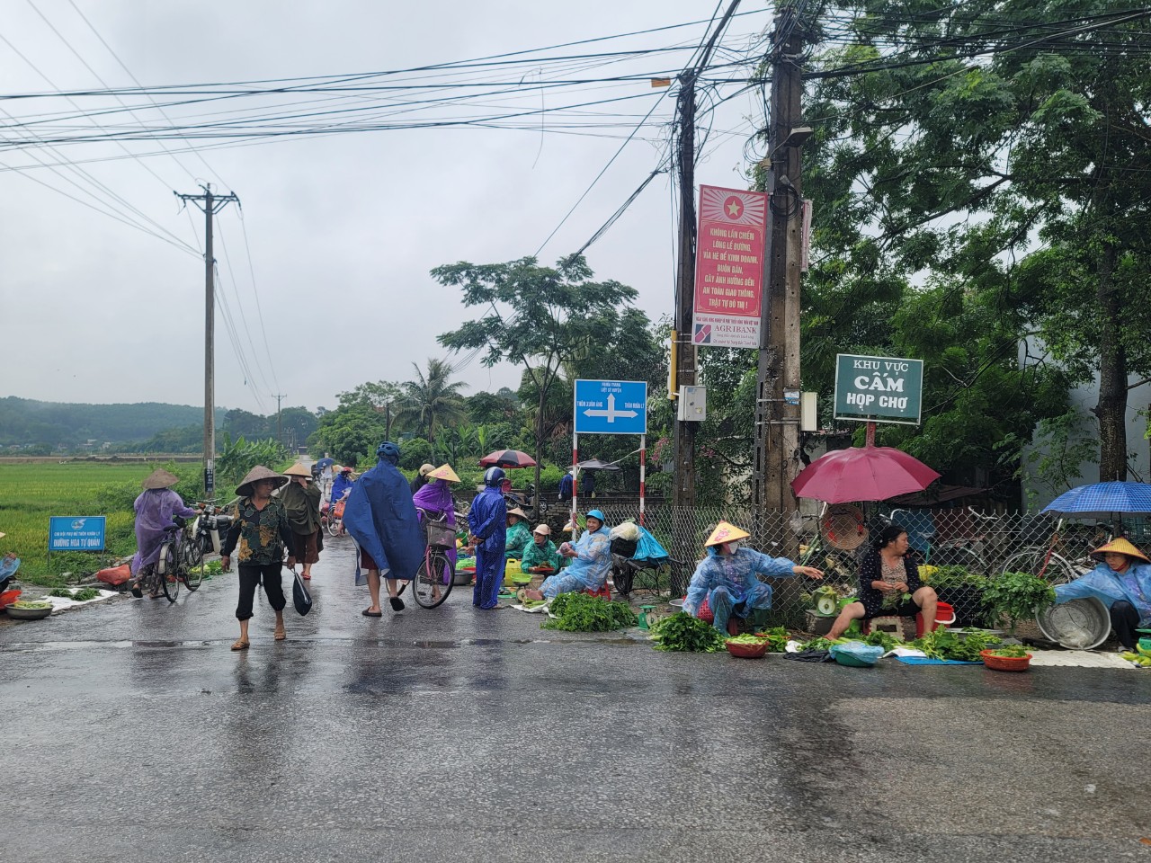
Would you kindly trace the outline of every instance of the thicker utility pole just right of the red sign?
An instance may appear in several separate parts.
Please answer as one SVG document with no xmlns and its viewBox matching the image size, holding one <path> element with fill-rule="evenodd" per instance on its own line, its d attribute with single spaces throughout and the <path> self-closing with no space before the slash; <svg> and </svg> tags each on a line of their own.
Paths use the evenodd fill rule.
<svg viewBox="0 0 1151 863">
<path fill-rule="evenodd" d="M 803 197 L 800 145 L 810 130 L 800 124 L 806 33 L 793 6 L 775 21 L 771 62 L 771 117 L 768 139 L 768 192 L 771 224 L 764 255 L 767 291 L 760 336 L 756 387 L 756 448 L 752 499 L 761 515 L 792 510 L 799 452 L 799 282 Z M 794 394 L 795 404 L 785 400 Z"/>
</svg>

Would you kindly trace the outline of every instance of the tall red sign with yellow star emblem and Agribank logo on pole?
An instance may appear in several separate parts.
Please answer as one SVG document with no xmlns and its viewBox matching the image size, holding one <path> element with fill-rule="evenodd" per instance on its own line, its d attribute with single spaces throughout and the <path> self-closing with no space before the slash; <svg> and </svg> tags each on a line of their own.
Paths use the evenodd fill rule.
<svg viewBox="0 0 1151 863">
<path fill-rule="evenodd" d="M 768 196 L 700 186 L 692 343 L 759 348 Z"/>
</svg>

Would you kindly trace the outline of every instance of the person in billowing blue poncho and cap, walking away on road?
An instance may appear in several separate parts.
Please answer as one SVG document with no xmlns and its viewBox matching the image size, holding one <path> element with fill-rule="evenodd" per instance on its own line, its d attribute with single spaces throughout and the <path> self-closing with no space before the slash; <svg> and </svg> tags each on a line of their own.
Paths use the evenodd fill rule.
<svg viewBox="0 0 1151 863">
<path fill-rule="evenodd" d="M 356 583 L 363 583 L 360 568 L 367 570 L 367 589 L 372 604 L 360 613 L 380 617 L 380 579 L 388 581 L 388 601 L 392 611 L 402 611 L 396 581 L 410 581 L 424 562 L 424 530 L 412 505 L 412 490 L 399 473 L 399 446 L 384 441 L 375 451 L 375 467 L 366 471 L 348 496 L 344 506 L 344 529 L 356 540 L 359 565 Z"/>
</svg>

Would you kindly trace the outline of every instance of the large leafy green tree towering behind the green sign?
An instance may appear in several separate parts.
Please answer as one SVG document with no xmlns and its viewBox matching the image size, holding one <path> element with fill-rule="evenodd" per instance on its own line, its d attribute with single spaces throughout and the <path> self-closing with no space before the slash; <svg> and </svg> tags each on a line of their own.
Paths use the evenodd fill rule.
<svg viewBox="0 0 1151 863">
<path fill-rule="evenodd" d="M 823 257 L 809 296 L 829 301 L 805 335 L 837 328 L 843 341 L 932 357 L 927 373 L 946 410 L 909 449 L 958 458 L 994 443 L 988 435 L 1008 440 L 1008 428 L 1058 413 L 1052 390 L 1065 375 L 1097 374 L 1100 479 L 1126 476 L 1128 376 L 1151 374 L 1135 335 L 1149 314 L 1139 297 L 1151 240 L 1126 227 L 1151 209 L 1151 68 L 1145 16 L 1128 7 L 856 0 L 810 22 L 833 23 L 851 44 L 822 54 L 806 109 L 822 119 L 805 147 Z M 869 307 L 890 314 L 869 322 Z M 914 321 L 895 320 L 912 307 Z M 901 329 L 891 338 L 883 327 Z M 1029 336 L 1061 372 L 1017 368 Z M 805 383 L 830 353 L 811 348 L 826 346 L 805 345 Z M 969 421 L 1004 404 L 1006 425 Z"/>
</svg>

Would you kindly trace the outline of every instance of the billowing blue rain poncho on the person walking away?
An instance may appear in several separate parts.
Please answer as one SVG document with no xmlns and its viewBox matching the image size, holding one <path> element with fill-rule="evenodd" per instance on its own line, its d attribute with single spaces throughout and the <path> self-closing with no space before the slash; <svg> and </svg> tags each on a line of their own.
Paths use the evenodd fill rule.
<svg viewBox="0 0 1151 863">
<path fill-rule="evenodd" d="M 391 579 L 414 578 L 424 562 L 424 530 L 412 490 L 386 459 L 356 480 L 344 506 L 344 529 Z"/>
</svg>

